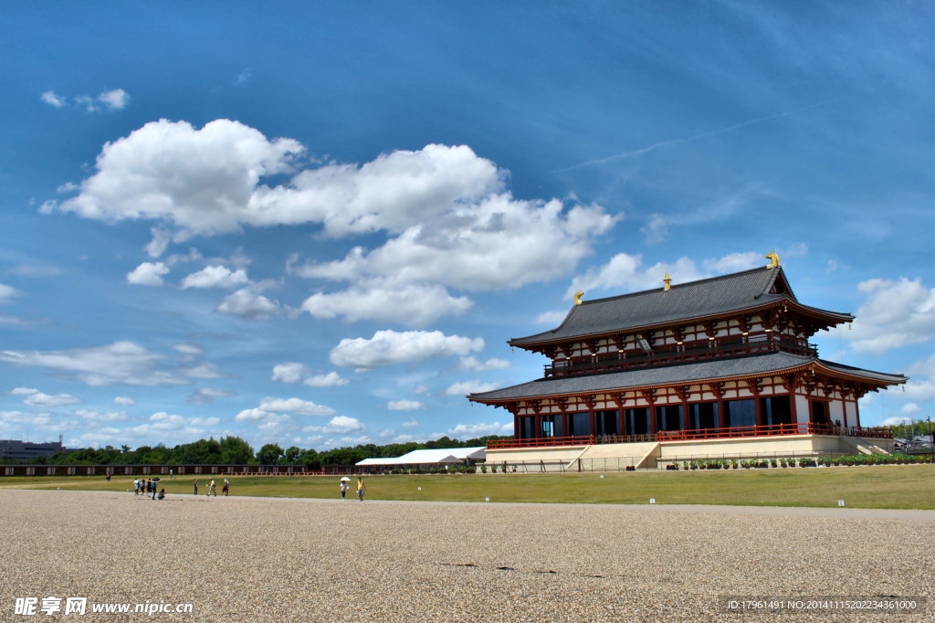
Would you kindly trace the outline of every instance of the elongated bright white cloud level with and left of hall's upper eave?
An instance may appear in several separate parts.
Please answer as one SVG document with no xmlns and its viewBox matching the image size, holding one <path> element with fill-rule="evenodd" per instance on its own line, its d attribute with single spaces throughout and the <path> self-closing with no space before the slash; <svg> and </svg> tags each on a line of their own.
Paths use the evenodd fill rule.
<svg viewBox="0 0 935 623">
<path fill-rule="evenodd" d="M 329 358 L 336 366 L 373 369 L 398 363 L 422 361 L 428 357 L 468 355 L 483 350 L 483 339 L 446 336 L 441 331 L 377 331 L 373 338 L 340 340 Z"/>
</svg>

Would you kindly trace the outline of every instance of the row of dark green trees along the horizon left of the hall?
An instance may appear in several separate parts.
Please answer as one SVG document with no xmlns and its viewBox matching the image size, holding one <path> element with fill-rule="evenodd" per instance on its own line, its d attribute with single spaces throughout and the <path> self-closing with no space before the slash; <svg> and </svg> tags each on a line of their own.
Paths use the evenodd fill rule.
<svg viewBox="0 0 935 623">
<path fill-rule="evenodd" d="M 39 456 L 28 460 L 4 458 L 4 465 L 295 465 L 317 470 L 323 465 L 353 465 L 365 458 L 392 458 L 403 456 L 413 450 L 439 448 L 469 448 L 486 445 L 491 440 L 512 439 L 510 436 L 487 435 L 464 442 L 442 437 L 431 442 L 387 443 L 376 445 L 362 443 L 355 446 L 333 448 L 318 452 L 313 448 L 290 446 L 282 449 L 278 443 L 266 443 L 254 452 L 250 443 L 239 437 L 222 437 L 215 440 L 198 440 L 180 443 L 169 448 L 160 443 L 156 446 L 142 445 L 131 449 L 128 445 L 119 448 L 84 448 L 65 450 L 50 457 Z"/>
</svg>

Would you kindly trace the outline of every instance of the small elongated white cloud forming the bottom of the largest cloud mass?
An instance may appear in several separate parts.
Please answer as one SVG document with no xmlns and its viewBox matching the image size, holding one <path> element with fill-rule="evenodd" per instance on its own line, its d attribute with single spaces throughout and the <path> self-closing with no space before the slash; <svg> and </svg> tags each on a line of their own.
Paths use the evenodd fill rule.
<svg viewBox="0 0 935 623">
<path fill-rule="evenodd" d="M 349 323 L 376 320 L 426 326 L 443 315 L 468 312 L 473 304 L 468 297 L 452 297 L 440 285 L 394 287 L 382 280 L 369 280 L 341 292 L 313 294 L 302 303 L 302 310 L 321 319 L 341 316 Z"/>
</svg>

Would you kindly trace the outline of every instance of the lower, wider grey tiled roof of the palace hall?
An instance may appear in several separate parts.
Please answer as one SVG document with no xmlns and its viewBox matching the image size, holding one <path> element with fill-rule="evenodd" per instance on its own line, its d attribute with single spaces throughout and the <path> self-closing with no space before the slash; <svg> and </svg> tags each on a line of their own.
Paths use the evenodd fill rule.
<svg viewBox="0 0 935 623">
<path fill-rule="evenodd" d="M 906 382 L 906 377 L 901 374 L 886 374 L 885 372 L 852 368 L 825 361 L 815 356 L 792 355 L 781 352 L 768 355 L 751 355 L 736 359 L 710 359 L 690 364 L 627 369 L 603 374 L 551 377 L 504 387 L 491 392 L 470 394 L 468 399 L 477 402 L 501 402 L 524 398 L 573 396 L 621 389 L 707 383 L 709 381 L 756 377 L 770 373 L 783 374 L 799 369 L 807 369 L 811 366 L 815 366 L 815 369 L 821 369 L 826 374 L 848 378 L 856 382 L 876 385 Z"/>
</svg>

